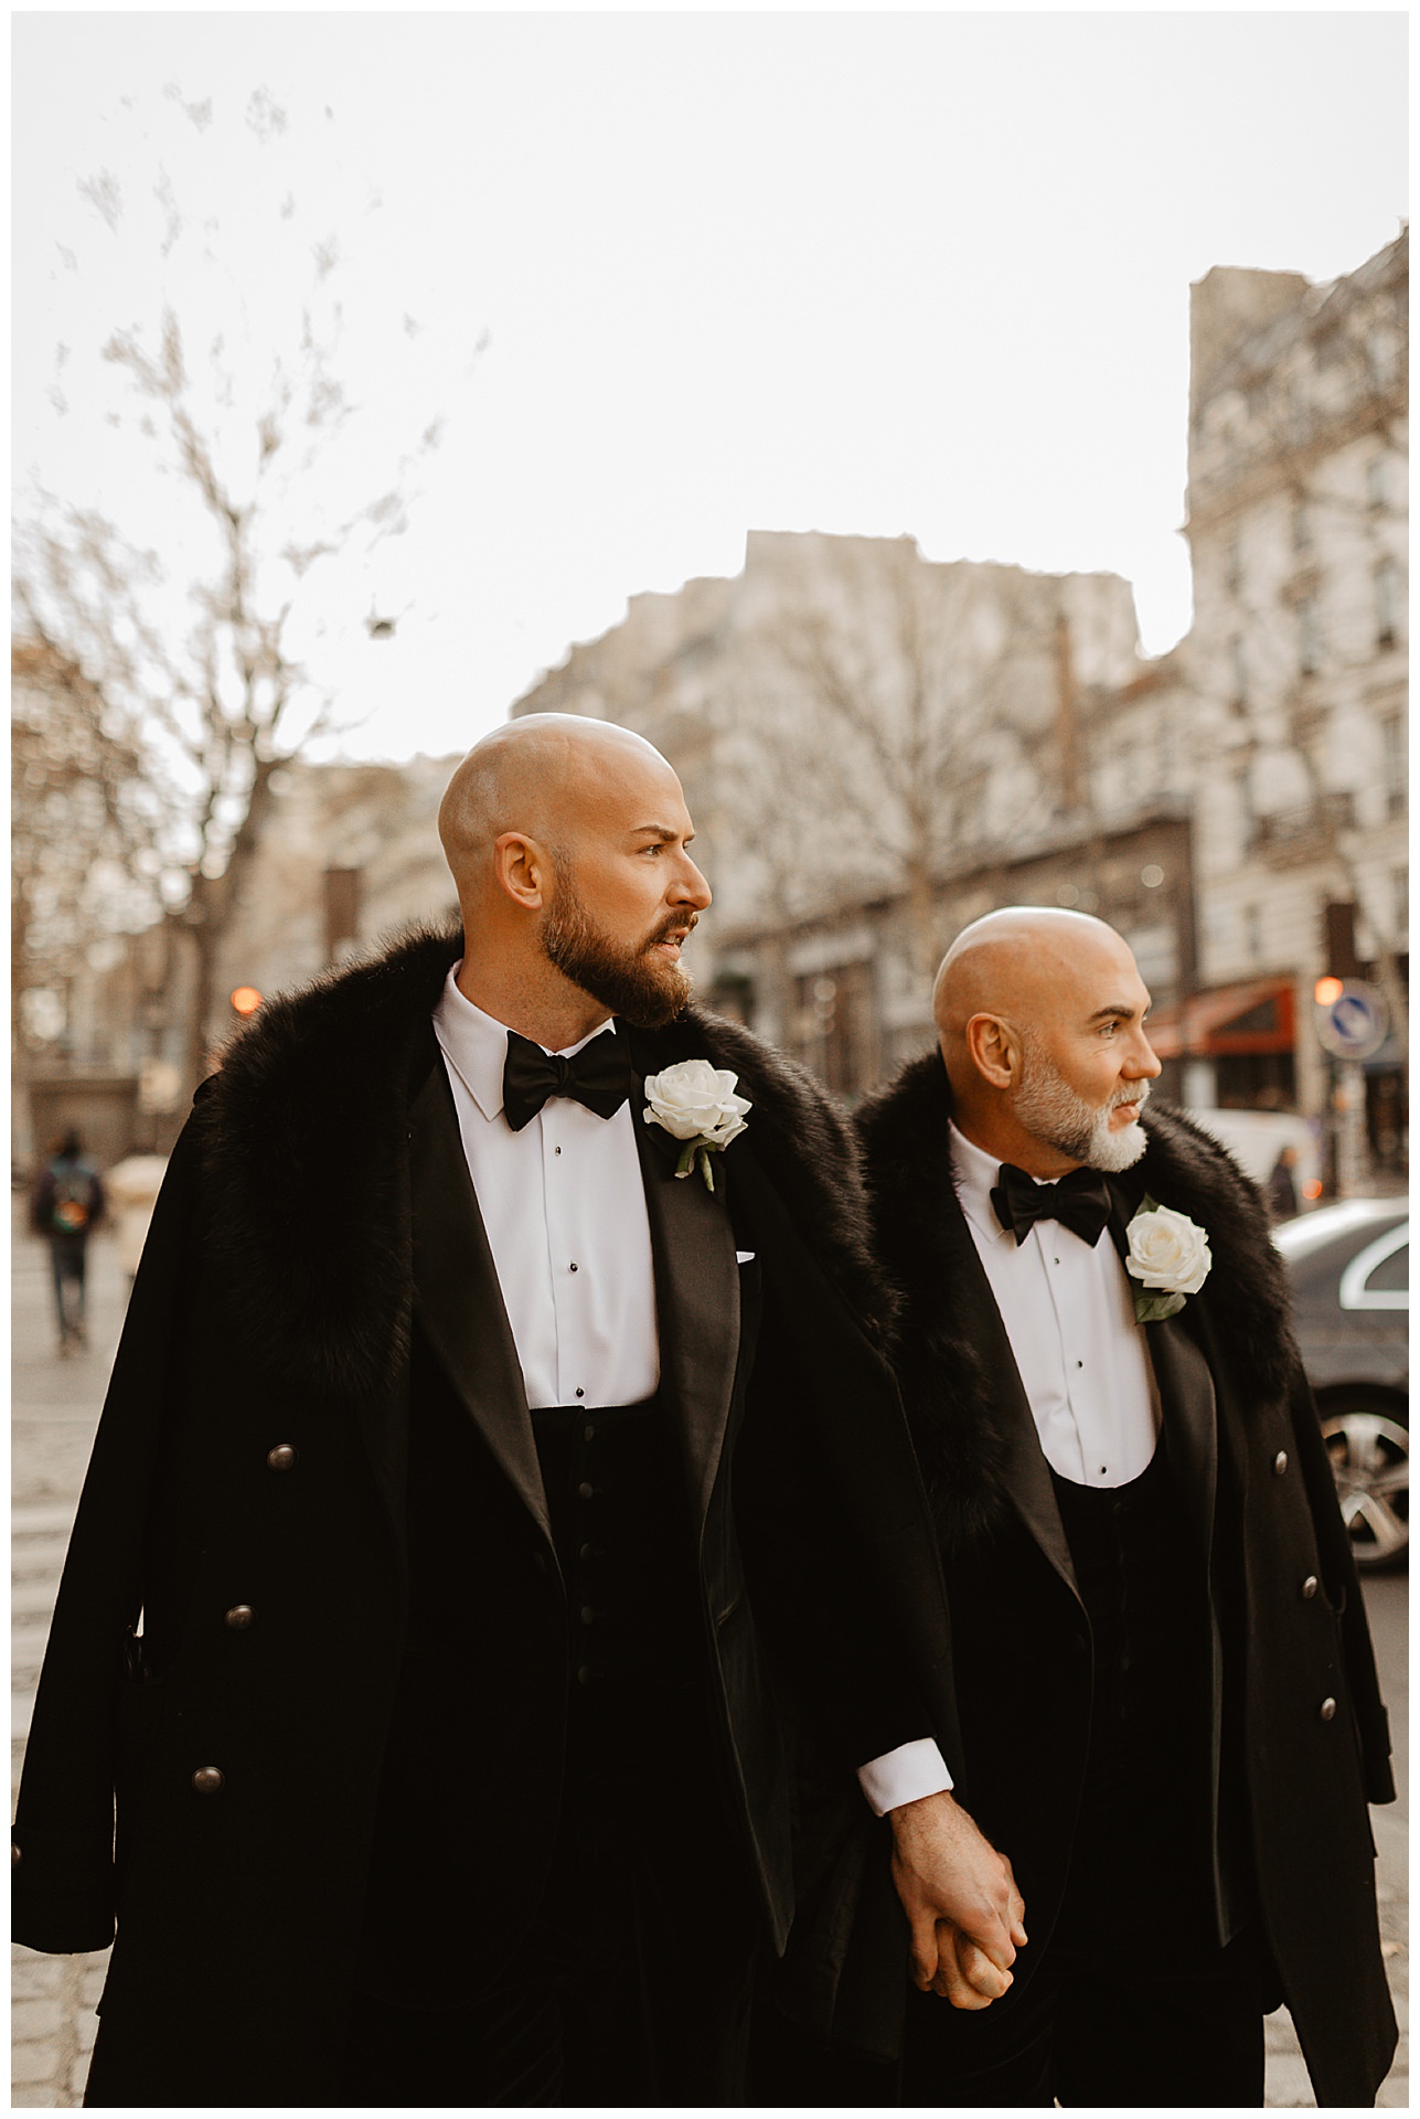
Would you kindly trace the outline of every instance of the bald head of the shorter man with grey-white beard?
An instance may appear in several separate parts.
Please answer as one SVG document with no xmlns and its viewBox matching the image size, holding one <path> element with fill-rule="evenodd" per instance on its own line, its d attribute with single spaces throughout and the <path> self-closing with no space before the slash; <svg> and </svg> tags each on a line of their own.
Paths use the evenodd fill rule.
<svg viewBox="0 0 1420 2119">
<path fill-rule="evenodd" d="M 1032 1176 L 1128 1168 L 1159 1072 L 1125 939 L 1087 913 L 1017 905 L 964 928 L 933 990 L 958 1125 Z"/>
</svg>

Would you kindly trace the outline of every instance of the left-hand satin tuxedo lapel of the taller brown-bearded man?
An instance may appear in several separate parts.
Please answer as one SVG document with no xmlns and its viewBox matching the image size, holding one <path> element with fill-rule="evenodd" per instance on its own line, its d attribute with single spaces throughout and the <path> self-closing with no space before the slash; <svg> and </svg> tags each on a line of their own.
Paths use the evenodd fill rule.
<svg viewBox="0 0 1420 2119">
<path fill-rule="evenodd" d="M 415 1312 L 468 1418 L 551 1538 L 523 1371 L 443 1057 L 409 1108 Z"/>
</svg>

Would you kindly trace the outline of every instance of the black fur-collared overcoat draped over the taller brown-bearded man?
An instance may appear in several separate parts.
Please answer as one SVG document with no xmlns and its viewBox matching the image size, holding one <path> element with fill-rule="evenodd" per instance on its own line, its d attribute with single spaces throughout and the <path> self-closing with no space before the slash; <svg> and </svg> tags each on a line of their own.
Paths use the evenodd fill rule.
<svg viewBox="0 0 1420 2119">
<path fill-rule="evenodd" d="M 434 1903 L 388 1909 L 384 1973 L 407 1966 L 409 1998 L 466 1992 L 545 1880 L 568 1623 L 430 1030 L 458 954 L 458 934 L 418 934 L 269 1004 L 172 1157 L 15 1831 L 19 1941 L 100 1949 L 117 1918 L 91 2102 L 329 2102 L 381 1771 L 386 1852 L 394 1833 L 439 1873 Z M 640 1076 L 710 1057 L 755 1104 L 714 1195 L 674 1178 L 634 1108 L 723 1788 L 782 1947 L 782 1704 L 803 1697 L 846 1776 L 854 1752 L 949 1744 L 941 1570 L 848 1129 L 704 1013 L 634 1032 L 632 1055 Z M 430 1479 L 411 1430 L 441 1437 L 432 1483 L 456 1494 L 420 1515 L 451 1560 L 418 1655 L 407 1481 L 428 1500 Z"/>
</svg>

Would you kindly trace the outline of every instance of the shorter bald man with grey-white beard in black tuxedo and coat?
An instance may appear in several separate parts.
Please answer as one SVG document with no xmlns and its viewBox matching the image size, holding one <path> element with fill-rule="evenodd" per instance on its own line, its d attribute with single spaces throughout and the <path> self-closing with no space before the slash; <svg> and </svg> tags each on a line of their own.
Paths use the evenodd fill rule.
<svg viewBox="0 0 1420 2119">
<path fill-rule="evenodd" d="M 1265 1206 L 1149 1102 L 1147 1015 L 1104 922 L 990 913 L 860 1112 L 958 1793 L 1030 1905 L 1002 2000 L 909 1996 L 905 2104 L 1261 2104 L 1282 2000 L 1318 2104 L 1395 2049 L 1365 1606 Z"/>
</svg>

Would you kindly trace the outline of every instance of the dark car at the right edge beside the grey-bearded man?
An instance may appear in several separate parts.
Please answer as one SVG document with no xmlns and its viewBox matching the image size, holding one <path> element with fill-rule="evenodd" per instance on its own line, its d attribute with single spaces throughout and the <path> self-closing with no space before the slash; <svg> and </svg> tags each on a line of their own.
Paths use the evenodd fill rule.
<svg viewBox="0 0 1420 2119">
<path fill-rule="evenodd" d="M 1409 1208 L 1337 1199 L 1272 1231 L 1356 1566 L 1409 1549 Z"/>
</svg>

